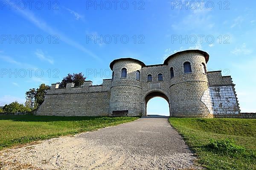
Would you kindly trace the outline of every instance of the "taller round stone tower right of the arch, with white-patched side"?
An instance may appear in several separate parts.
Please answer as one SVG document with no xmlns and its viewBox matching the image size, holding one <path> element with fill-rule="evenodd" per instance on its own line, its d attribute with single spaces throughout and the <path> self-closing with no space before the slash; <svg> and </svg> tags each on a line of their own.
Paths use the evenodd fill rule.
<svg viewBox="0 0 256 170">
<path fill-rule="evenodd" d="M 213 117 L 206 71 L 208 60 L 209 54 L 201 50 L 180 51 L 165 60 L 170 77 L 171 116 Z"/>
</svg>

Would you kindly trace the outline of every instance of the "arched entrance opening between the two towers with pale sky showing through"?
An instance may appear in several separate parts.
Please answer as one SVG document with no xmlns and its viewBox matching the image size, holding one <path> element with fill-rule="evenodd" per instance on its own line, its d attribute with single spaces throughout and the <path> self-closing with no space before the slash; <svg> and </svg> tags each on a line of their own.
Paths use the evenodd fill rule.
<svg viewBox="0 0 256 170">
<path fill-rule="evenodd" d="M 154 99 L 153 99 L 154 98 Z M 152 102 L 151 102 L 152 101 Z M 148 111 L 148 108 L 154 107 L 154 111 Z M 162 111 L 168 108 L 168 113 L 163 114 Z M 152 110 L 152 109 L 151 109 Z M 170 101 L 169 98 L 160 91 L 152 91 L 147 96 L 145 96 L 145 116 L 157 114 L 163 116 L 170 116 Z"/>
</svg>

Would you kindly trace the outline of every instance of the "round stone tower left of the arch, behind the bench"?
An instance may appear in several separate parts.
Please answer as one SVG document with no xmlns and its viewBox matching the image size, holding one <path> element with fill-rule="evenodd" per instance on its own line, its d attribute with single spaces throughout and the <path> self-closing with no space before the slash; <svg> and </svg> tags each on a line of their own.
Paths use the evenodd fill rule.
<svg viewBox="0 0 256 170">
<path fill-rule="evenodd" d="M 113 71 L 109 113 L 128 110 L 128 116 L 142 114 L 141 72 L 145 64 L 137 59 L 115 59 L 110 64 Z"/>
</svg>

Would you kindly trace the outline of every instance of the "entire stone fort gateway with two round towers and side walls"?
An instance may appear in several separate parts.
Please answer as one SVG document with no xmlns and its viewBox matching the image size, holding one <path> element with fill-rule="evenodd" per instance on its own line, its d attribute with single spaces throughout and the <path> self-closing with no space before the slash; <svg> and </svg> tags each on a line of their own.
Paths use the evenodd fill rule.
<svg viewBox="0 0 256 170">
<path fill-rule="evenodd" d="M 145 65 L 132 58 L 110 63 L 112 79 L 102 85 L 85 81 L 81 87 L 52 84 L 36 115 L 110 116 L 128 111 L 128 116 L 146 116 L 147 102 L 156 96 L 169 103 L 170 116 L 212 118 L 238 115 L 239 103 L 230 76 L 208 71 L 209 54 L 201 50 L 180 51 L 163 64 Z"/>
</svg>

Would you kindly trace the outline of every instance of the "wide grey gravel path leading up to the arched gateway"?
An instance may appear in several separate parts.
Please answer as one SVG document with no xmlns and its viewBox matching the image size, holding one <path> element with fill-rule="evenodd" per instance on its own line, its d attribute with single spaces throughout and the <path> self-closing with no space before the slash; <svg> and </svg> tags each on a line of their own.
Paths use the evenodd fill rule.
<svg viewBox="0 0 256 170">
<path fill-rule="evenodd" d="M 141 118 L 0 151 L 0 170 L 199 169 L 167 118 Z M 2 166 L 2 169 L 1 169 Z"/>
</svg>

